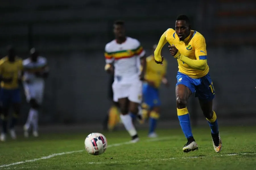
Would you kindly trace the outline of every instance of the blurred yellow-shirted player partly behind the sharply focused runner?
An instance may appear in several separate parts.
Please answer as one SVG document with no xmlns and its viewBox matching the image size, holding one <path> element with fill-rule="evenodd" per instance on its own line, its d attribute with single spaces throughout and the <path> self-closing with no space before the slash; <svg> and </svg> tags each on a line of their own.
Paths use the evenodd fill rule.
<svg viewBox="0 0 256 170">
<path fill-rule="evenodd" d="M 153 46 L 153 53 L 157 45 Z M 143 83 L 143 104 L 142 107 L 147 110 L 146 116 L 149 115 L 149 132 L 148 137 L 157 137 L 155 133 L 156 123 L 159 119 L 161 101 L 159 98 L 159 87 L 161 82 L 168 86 L 166 79 L 167 62 L 163 61 L 164 66 L 155 63 L 154 54 L 146 58 L 145 82 Z"/>
</svg>

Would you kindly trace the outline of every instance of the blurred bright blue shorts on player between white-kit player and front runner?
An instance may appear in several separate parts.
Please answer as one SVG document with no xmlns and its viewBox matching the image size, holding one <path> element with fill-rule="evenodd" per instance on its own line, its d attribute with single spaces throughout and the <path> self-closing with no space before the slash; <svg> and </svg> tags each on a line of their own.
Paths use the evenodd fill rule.
<svg viewBox="0 0 256 170">
<path fill-rule="evenodd" d="M 152 109 L 154 106 L 160 106 L 159 91 L 155 87 L 143 83 L 143 102 L 146 103 L 149 109 Z"/>
</svg>

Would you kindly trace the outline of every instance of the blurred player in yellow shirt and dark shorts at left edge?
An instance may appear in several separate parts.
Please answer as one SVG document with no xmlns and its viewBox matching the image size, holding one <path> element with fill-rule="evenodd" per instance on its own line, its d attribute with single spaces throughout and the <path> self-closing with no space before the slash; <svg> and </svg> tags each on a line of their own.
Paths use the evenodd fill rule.
<svg viewBox="0 0 256 170">
<path fill-rule="evenodd" d="M 14 126 L 17 122 L 17 117 L 20 113 L 20 89 L 19 89 L 19 78 L 22 72 L 22 60 L 16 56 L 15 49 L 13 47 L 8 48 L 8 56 L 0 60 L 0 79 L 1 79 L 1 123 L 2 131 L 0 140 L 6 140 L 7 133 L 7 116 L 9 105 L 13 104 L 13 115 L 10 124 L 10 134 L 13 139 L 16 138 Z"/>
</svg>

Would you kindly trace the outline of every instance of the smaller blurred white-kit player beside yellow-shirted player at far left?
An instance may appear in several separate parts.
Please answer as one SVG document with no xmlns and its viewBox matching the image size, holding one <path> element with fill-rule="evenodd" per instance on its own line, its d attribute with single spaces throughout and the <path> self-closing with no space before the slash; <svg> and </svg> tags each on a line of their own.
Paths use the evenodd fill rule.
<svg viewBox="0 0 256 170">
<path fill-rule="evenodd" d="M 38 137 L 38 112 L 44 97 L 44 79 L 48 77 L 49 67 L 46 58 L 39 56 L 35 48 L 30 50 L 30 57 L 23 60 L 23 67 L 23 86 L 27 102 L 30 104 L 24 136 L 28 137 L 32 129 L 33 136 Z"/>
</svg>

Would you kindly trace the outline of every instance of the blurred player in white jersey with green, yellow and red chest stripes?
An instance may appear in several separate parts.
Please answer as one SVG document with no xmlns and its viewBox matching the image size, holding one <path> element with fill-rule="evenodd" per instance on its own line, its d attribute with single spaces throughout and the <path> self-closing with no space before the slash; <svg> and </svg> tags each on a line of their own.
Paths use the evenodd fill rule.
<svg viewBox="0 0 256 170">
<path fill-rule="evenodd" d="M 115 39 L 105 47 L 105 70 L 112 72 L 114 64 L 113 100 L 119 103 L 120 118 L 132 138 L 131 142 L 137 142 L 139 136 L 130 114 L 138 115 L 140 110 L 146 68 L 145 51 L 137 39 L 125 36 L 123 21 L 116 21 L 113 31 Z"/>
</svg>

